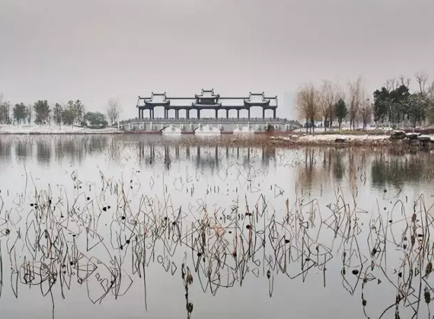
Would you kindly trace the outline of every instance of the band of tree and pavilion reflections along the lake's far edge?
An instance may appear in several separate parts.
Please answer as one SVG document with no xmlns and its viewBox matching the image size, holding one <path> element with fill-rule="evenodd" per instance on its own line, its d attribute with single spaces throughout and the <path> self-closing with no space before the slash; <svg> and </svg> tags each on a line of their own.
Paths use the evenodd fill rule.
<svg viewBox="0 0 434 319">
<path fill-rule="evenodd" d="M 393 155 L 372 150 L 351 148 L 301 148 L 277 154 L 275 146 L 261 148 L 191 146 L 189 144 L 164 144 L 140 136 L 32 136 L 28 138 L 1 137 L 0 158 L 11 160 L 11 154 L 20 160 L 33 157 L 36 143 L 36 160 L 45 166 L 52 159 L 83 164 L 86 157 L 104 156 L 120 161 L 125 150 L 137 157 L 140 165 L 164 163 L 167 171 L 173 163 L 189 161 L 196 169 L 216 173 L 224 162 L 238 161 L 244 166 L 260 164 L 262 167 L 298 163 L 301 182 L 305 187 L 317 187 L 330 178 L 342 182 L 345 178 L 360 178 L 368 173 L 372 187 L 401 188 L 406 183 L 431 180 L 434 160 L 429 153 Z M 277 158 L 279 157 L 279 158 Z M 366 176 L 363 176 L 366 178 Z"/>
</svg>

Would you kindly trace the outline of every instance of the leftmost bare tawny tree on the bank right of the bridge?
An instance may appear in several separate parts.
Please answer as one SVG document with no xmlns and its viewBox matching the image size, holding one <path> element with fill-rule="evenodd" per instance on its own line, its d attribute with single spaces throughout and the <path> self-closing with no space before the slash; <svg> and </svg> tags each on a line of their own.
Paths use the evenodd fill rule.
<svg viewBox="0 0 434 319">
<path fill-rule="evenodd" d="M 303 85 L 297 92 L 296 106 L 300 115 L 306 119 L 306 133 L 308 132 L 308 127 L 310 127 L 311 132 L 312 129 L 315 132 L 314 120 L 320 114 L 319 96 L 318 90 L 312 83 Z"/>
</svg>

